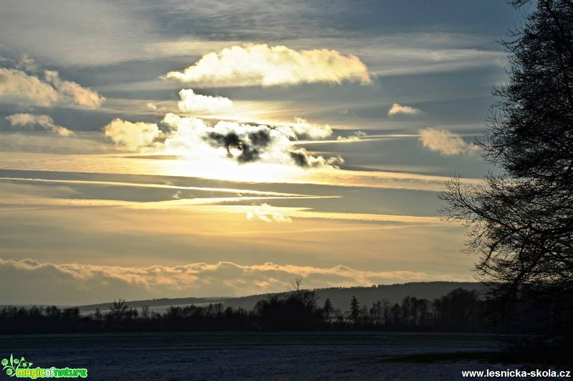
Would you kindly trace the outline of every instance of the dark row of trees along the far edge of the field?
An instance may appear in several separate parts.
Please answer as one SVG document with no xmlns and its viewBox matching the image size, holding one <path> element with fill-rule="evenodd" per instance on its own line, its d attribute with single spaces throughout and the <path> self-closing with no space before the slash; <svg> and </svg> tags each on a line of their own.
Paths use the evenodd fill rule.
<svg viewBox="0 0 573 381">
<path fill-rule="evenodd" d="M 96 309 L 81 315 L 79 308 L 3 307 L 0 334 L 72 333 L 103 331 L 249 331 L 249 330 L 393 330 L 393 331 L 482 331 L 487 327 L 485 301 L 477 291 L 458 288 L 429 301 L 406 296 L 402 303 L 378 300 L 363 305 L 356 297 L 348 309 L 334 308 L 329 299 L 319 305 L 316 293 L 300 289 L 258 301 L 248 311 L 207 306 L 171 306 L 164 313 L 148 306 L 130 308 L 114 301 L 109 311 Z"/>
</svg>

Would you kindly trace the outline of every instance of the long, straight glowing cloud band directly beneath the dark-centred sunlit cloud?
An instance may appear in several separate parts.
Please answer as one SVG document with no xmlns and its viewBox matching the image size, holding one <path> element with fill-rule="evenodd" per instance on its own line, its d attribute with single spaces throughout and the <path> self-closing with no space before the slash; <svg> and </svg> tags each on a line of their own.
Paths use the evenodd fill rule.
<svg viewBox="0 0 573 381">
<path fill-rule="evenodd" d="M 50 160 L 47 160 L 47 159 Z M 19 157 L 0 152 L 3 168 L 13 170 L 51 170 L 90 173 L 122 173 L 122 174 L 160 174 L 162 176 L 192 176 L 210 178 L 213 180 L 230 180 L 241 182 L 267 182 L 286 184 L 316 184 L 343 187 L 363 187 L 380 189 L 411 189 L 427 192 L 441 192 L 450 180 L 449 176 L 419 174 L 408 172 L 390 172 L 383 170 L 362 171 L 329 168 L 311 168 L 303 170 L 298 166 L 282 166 L 254 163 L 253 167 L 229 165 L 219 168 L 215 165 L 202 168 L 194 165 L 194 161 L 178 160 L 147 160 L 108 155 L 91 157 L 51 154 L 21 153 Z M 196 163 L 195 163 L 196 164 Z M 298 170 L 296 170 L 298 169 Z M 463 178 L 467 184 L 478 184 L 480 178 Z"/>
</svg>

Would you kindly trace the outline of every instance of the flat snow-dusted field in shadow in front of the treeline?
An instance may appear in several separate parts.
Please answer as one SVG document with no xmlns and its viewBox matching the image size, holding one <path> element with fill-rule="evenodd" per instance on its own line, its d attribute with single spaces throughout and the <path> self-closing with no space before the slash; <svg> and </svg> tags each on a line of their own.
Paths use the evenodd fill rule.
<svg viewBox="0 0 573 381">
<path fill-rule="evenodd" d="M 459 380 L 462 370 L 513 370 L 516 364 L 477 360 L 403 362 L 394 356 L 497 349 L 492 337 L 471 334 L 209 332 L 0 336 L 2 358 L 10 354 L 24 356 L 33 368 L 87 368 L 88 379 L 93 380 Z"/>
</svg>

